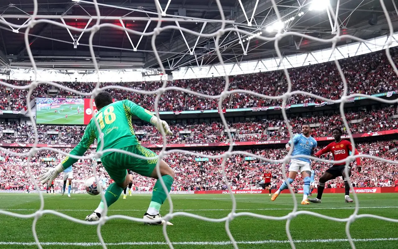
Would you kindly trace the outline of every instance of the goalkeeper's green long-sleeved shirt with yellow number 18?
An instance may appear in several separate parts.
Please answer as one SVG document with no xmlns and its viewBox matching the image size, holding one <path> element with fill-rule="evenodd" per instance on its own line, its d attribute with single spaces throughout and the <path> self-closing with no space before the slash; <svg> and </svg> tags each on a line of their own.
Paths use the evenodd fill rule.
<svg viewBox="0 0 398 249">
<path fill-rule="evenodd" d="M 94 115 L 94 118 L 88 123 L 84 135 L 79 144 L 69 153 L 76 156 L 82 156 L 84 152 L 90 148 L 90 145 L 97 139 L 97 151 L 103 144 L 105 149 L 121 149 L 130 145 L 139 144 L 134 133 L 133 124 L 131 124 L 131 116 L 150 122 L 152 114 L 150 111 L 131 102 L 130 100 L 121 100 L 104 106 Z M 100 126 L 100 130 L 96 126 L 96 122 Z M 112 152 L 105 152 L 101 157 Z M 63 168 L 68 168 L 78 159 L 66 156 L 62 160 Z"/>
</svg>

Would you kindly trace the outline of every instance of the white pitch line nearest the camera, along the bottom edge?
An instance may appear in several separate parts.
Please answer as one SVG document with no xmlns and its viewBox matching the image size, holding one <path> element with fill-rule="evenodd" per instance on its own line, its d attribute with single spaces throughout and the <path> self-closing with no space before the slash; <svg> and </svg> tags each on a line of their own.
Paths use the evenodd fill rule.
<svg viewBox="0 0 398 249">
<path fill-rule="evenodd" d="M 334 242 L 348 242 L 348 239 L 300 239 L 293 240 L 294 243 L 334 243 Z M 371 242 L 371 241 L 398 241 L 398 238 L 369 238 L 369 239 L 352 239 L 354 242 Z M 289 240 L 256 240 L 256 241 L 236 241 L 237 244 L 256 245 L 256 244 L 287 244 Z M 41 245 L 63 245 L 63 246 L 101 246 L 99 242 L 41 242 Z M 173 245 L 231 245 L 231 241 L 183 241 L 172 242 Z M 13 242 L 0 241 L 0 245 L 36 245 L 35 242 Z M 119 243 L 105 243 L 105 245 L 167 245 L 166 242 L 119 242 Z"/>
</svg>

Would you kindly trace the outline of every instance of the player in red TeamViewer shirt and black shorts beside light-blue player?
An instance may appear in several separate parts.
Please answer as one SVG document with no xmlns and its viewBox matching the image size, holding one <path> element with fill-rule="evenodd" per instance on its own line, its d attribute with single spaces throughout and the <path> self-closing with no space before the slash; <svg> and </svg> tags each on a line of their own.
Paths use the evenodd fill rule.
<svg viewBox="0 0 398 249">
<path fill-rule="evenodd" d="M 322 150 L 316 152 L 314 156 L 320 156 L 325 153 L 332 152 L 335 161 L 347 158 L 349 156 L 349 152 L 352 150 L 352 145 L 351 142 L 341 139 L 342 134 L 343 133 L 341 132 L 341 129 L 334 128 L 333 129 L 334 141 L 325 148 L 323 148 Z M 355 149 L 355 154 L 356 155 L 359 154 L 356 149 Z M 356 160 L 357 160 L 358 172 L 361 172 L 361 166 L 360 166 L 361 159 L 357 157 Z M 312 161 L 312 164 L 315 164 L 315 161 Z M 345 184 L 345 202 L 346 203 L 353 202 L 353 200 L 349 197 L 349 184 L 348 184 L 349 177 L 351 176 L 351 167 L 350 166 L 348 167 L 348 174 L 349 174 L 348 176 L 345 174 L 344 169 L 345 169 L 345 162 L 336 163 L 332 167 L 328 168 L 328 170 L 326 170 L 326 172 L 324 172 L 324 174 L 319 178 L 318 195 L 316 196 L 315 199 L 308 199 L 308 201 L 312 203 L 320 203 L 326 181 L 333 180 L 335 178 L 338 178 L 339 176 L 342 176 Z"/>
</svg>

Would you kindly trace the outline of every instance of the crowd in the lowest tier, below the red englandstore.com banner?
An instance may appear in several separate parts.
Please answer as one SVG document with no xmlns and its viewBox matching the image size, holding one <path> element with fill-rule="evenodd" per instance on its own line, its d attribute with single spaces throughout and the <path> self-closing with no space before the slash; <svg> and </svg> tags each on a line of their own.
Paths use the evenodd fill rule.
<svg viewBox="0 0 398 249">
<path fill-rule="evenodd" d="M 389 160 L 398 160 L 397 140 L 390 141 L 373 141 L 370 143 L 358 143 L 357 149 L 361 154 L 370 154 Z M 26 153 L 29 148 L 14 149 L 12 151 L 18 153 Z M 70 149 L 62 149 L 69 152 Z M 156 151 L 158 152 L 158 151 Z M 220 155 L 224 151 L 194 151 L 204 155 Z M 287 154 L 285 148 L 278 149 L 252 149 L 250 151 L 259 156 L 269 158 L 271 160 L 283 159 Z M 94 149 L 89 149 L 86 155 L 94 153 Z M 25 189 L 26 186 L 33 185 L 27 170 L 27 156 L 14 156 L 1 151 L 0 157 L 0 189 Z M 43 167 L 57 164 L 64 156 L 53 151 L 37 151 L 31 158 L 29 164 L 33 176 L 38 176 Z M 223 180 L 221 159 L 211 159 L 208 161 L 195 161 L 195 158 L 206 158 L 206 156 L 194 156 L 185 153 L 172 153 L 164 157 L 164 160 L 175 170 L 176 177 L 172 186 L 173 190 L 221 190 L 226 189 Z M 331 154 L 326 155 L 326 159 L 331 160 Z M 362 171 L 357 172 L 353 167 L 353 175 L 351 181 L 358 187 L 375 187 L 375 186 L 398 186 L 398 165 L 389 164 L 380 160 L 370 158 L 362 158 Z M 353 163 L 355 164 L 355 163 Z M 74 168 L 74 186 L 79 185 L 90 178 L 92 174 L 92 162 L 90 160 L 80 160 Z M 315 181 L 317 182 L 330 164 L 316 163 Z M 250 189 L 256 186 L 262 179 L 264 170 L 269 169 L 272 172 L 272 186 L 275 188 L 283 182 L 283 174 L 281 172 L 280 163 L 267 163 L 261 160 L 245 160 L 245 155 L 235 154 L 228 158 L 225 164 L 225 172 L 228 181 L 233 189 Z M 109 176 L 98 164 L 97 168 L 100 178 Z M 287 170 L 287 168 L 286 168 Z M 154 180 L 139 175 L 133 177 L 134 190 L 148 191 L 154 185 Z M 60 189 L 62 174 L 57 178 L 57 189 Z M 337 178 L 328 182 L 327 187 L 344 187 L 342 178 Z M 45 186 L 43 186 L 45 187 Z M 301 188 L 302 179 L 293 182 L 293 187 Z"/>
</svg>

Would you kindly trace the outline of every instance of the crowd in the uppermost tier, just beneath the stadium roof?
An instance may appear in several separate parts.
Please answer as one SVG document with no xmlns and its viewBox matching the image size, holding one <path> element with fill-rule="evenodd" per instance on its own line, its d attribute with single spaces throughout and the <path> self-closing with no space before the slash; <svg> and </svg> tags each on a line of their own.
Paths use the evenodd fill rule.
<svg viewBox="0 0 398 249">
<path fill-rule="evenodd" d="M 398 61 L 398 48 L 390 49 L 390 54 L 395 63 Z M 385 51 L 381 50 L 370 54 L 350 57 L 339 60 L 339 64 L 347 81 L 347 93 L 375 94 L 398 90 L 398 77 L 386 58 Z M 306 91 L 322 97 L 338 99 L 343 93 L 343 80 L 334 62 L 314 64 L 299 68 L 288 69 L 292 91 Z M 287 77 L 283 71 L 259 72 L 244 75 L 230 76 L 232 89 L 255 91 L 269 96 L 280 96 L 287 91 Z M 13 85 L 28 85 L 29 81 L 8 80 Z M 58 82 L 60 85 L 88 93 L 92 91 L 94 83 L 84 82 Z M 154 91 L 162 86 L 162 82 L 125 82 L 101 83 L 101 87 L 119 85 L 142 91 Z M 181 87 L 207 95 L 219 95 L 225 87 L 224 77 L 211 77 L 201 79 L 181 79 L 167 81 L 166 86 Z M 33 97 L 46 97 L 49 85 L 40 84 L 32 95 Z M 4 89 L 2 89 L 4 90 Z M 142 105 L 148 110 L 154 110 L 156 95 L 143 95 L 122 89 L 109 89 L 116 99 L 128 98 Z M 6 92 L 6 91 L 2 91 Z M 10 96 L 10 109 L 21 110 L 26 106 L 27 90 L 11 89 L 10 92 L 0 95 L 0 108 L 8 108 L 7 96 Z M 59 89 L 58 98 L 78 97 L 70 91 Z M 1 100 L 2 99 L 2 100 Z M 166 91 L 160 97 L 159 110 L 207 110 L 217 109 L 219 98 L 203 98 L 197 95 L 186 94 L 181 91 Z M 270 105 L 280 105 L 282 100 L 269 100 L 258 98 L 245 93 L 234 93 L 223 100 L 222 108 L 246 108 Z M 306 95 L 292 95 L 287 104 L 320 102 Z"/>
</svg>

